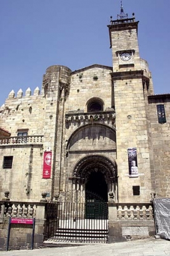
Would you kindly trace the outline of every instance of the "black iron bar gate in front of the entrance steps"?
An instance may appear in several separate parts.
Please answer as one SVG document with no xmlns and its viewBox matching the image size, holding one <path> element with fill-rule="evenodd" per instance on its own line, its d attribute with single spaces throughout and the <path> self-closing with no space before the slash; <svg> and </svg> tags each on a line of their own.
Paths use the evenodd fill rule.
<svg viewBox="0 0 170 256">
<path fill-rule="evenodd" d="M 47 203 L 46 239 L 62 242 L 107 242 L 107 202 Z"/>
</svg>

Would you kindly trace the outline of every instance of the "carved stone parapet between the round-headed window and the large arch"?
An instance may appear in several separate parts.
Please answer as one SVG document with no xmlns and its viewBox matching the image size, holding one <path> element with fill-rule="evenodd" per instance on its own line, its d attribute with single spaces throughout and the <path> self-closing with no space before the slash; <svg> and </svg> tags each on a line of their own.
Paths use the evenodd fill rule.
<svg viewBox="0 0 170 256">
<path fill-rule="evenodd" d="M 65 124 L 68 128 L 71 124 L 83 125 L 88 123 L 102 123 L 111 126 L 115 125 L 116 114 L 114 110 L 111 111 L 100 111 L 92 113 L 79 113 L 74 111 L 65 115 Z"/>
</svg>

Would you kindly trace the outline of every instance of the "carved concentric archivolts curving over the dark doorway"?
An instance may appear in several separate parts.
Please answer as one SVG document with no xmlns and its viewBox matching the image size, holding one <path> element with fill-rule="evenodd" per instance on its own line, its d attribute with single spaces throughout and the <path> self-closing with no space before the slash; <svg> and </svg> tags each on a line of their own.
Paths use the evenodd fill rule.
<svg viewBox="0 0 170 256">
<path fill-rule="evenodd" d="M 84 157 L 76 164 L 73 171 L 73 183 L 86 183 L 91 172 L 97 171 L 103 174 L 107 183 L 114 182 L 117 179 L 115 163 L 111 162 L 105 156 L 91 155 Z"/>
</svg>

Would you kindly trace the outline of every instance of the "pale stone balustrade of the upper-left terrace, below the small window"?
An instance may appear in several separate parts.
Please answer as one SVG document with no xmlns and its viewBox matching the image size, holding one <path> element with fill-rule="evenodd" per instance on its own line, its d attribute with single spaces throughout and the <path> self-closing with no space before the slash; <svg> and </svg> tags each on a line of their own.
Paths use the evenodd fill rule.
<svg viewBox="0 0 170 256">
<path fill-rule="evenodd" d="M 16 136 L 16 137 L 0 137 L 1 145 L 22 145 L 22 144 L 42 144 L 42 135 L 32 136 Z"/>
</svg>

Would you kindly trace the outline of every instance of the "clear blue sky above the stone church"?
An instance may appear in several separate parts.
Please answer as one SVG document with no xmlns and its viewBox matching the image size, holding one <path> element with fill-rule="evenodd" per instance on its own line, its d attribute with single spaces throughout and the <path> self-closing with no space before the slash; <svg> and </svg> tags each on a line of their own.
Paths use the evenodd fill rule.
<svg viewBox="0 0 170 256">
<path fill-rule="evenodd" d="M 147 60 L 155 93 L 169 90 L 169 0 L 123 0 L 139 20 L 140 57 Z M 0 106 L 9 92 L 41 89 L 46 68 L 111 66 L 107 25 L 119 0 L 0 0 Z"/>
</svg>

